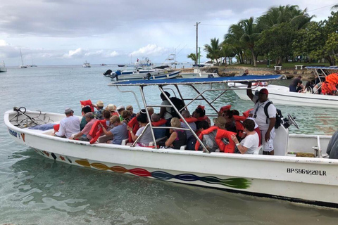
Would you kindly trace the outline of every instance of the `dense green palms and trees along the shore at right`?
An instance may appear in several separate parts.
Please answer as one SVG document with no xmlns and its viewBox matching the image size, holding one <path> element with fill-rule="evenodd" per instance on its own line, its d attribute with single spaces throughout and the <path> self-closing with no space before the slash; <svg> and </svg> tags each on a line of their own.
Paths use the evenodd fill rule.
<svg viewBox="0 0 338 225">
<path fill-rule="evenodd" d="M 333 6 L 332 10 L 338 8 Z M 236 58 L 241 64 L 256 67 L 257 58 L 282 65 L 289 60 L 317 62 L 325 60 L 330 65 L 338 62 L 338 11 L 331 12 L 326 20 L 312 21 L 306 8 L 287 5 L 271 7 L 258 18 L 240 20 L 230 26 L 223 41 L 211 39 L 204 45 L 207 58 L 223 60 Z M 196 54 L 187 56 L 195 62 Z"/>
</svg>

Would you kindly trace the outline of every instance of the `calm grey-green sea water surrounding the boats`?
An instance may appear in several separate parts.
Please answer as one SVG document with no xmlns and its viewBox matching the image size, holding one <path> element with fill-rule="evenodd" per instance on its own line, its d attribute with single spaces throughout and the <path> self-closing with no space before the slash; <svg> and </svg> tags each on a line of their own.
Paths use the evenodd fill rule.
<svg viewBox="0 0 338 225">
<path fill-rule="evenodd" d="M 93 103 L 101 100 L 105 105 L 133 105 L 134 111 L 139 110 L 132 94 L 107 85 L 111 80 L 102 73 L 108 68 L 117 69 L 81 65 L 8 68 L 8 72 L 0 73 L 0 115 L 13 106 L 54 113 L 71 107 L 80 115 L 80 101 L 87 99 Z M 277 84 L 288 85 L 289 81 Z M 123 90 L 139 91 L 137 87 Z M 144 91 L 147 103 L 161 103 L 156 87 L 146 87 Z M 194 96 L 188 87 L 182 89 L 182 94 Z M 253 106 L 232 91 L 222 96 L 216 106 L 227 104 L 240 112 Z M 296 117 L 300 129 L 290 127 L 291 133 L 333 134 L 338 127 L 337 110 L 311 105 L 277 108 Z M 325 207 L 54 162 L 12 141 L 3 119 L 0 181 L 0 224 L 337 224 L 338 217 L 338 210 Z"/>
</svg>

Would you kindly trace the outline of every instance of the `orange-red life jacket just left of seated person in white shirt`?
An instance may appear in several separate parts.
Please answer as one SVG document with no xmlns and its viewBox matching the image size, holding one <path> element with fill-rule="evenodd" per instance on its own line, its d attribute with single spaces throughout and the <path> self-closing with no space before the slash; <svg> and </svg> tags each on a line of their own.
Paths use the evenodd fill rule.
<svg viewBox="0 0 338 225">
<path fill-rule="evenodd" d="M 210 127 L 208 129 L 205 129 L 204 131 L 201 131 L 201 134 L 199 134 L 199 139 L 202 140 L 204 134 L 209 134 L 212 131 L 217 130 L 215 141 L 220 148 L 221 152 L 224 153 L 234 153 L 234 141 L 232 141 L 231 136 L 232 134 L 236 135 L 236 133 L 227 131 L 225 129 L 219 129 L 218 127 Z M 222 141 L 223 138 L 229 139 L 229 144 L 225 145 L 225 143 Z M 196 141 L 195 150 L 199 150 L 199 141 Z"/>
</svg>

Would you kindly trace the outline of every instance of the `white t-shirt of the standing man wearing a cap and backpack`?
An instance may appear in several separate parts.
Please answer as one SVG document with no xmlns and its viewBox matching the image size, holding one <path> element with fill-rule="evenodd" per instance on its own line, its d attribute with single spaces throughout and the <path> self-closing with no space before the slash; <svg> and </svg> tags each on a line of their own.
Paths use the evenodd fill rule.
<svg viewBox="0 0 338 225">
<path fill-rule="evenodd" d="M 268 103 L 270 100 L 268 99 L 267 101 L 261 103 L 258 101 L 258 96 L 253 96 L 252 101 L 255 103 L 255 106 L 253 106 L 253 117 L 255 117 L 255 122 L 258 124 L 259 129 L 261 130 L 268 130 L 269 125 L 270 125 L 270 119 L 268 119 L 268 123 L 266 123 L 266 115 L 264 113 L 264 106 L 266 103 Z M 277 110 L 275 108 L 275 105 L 270 104 L 268 107 L 268 115 L 269 118 L 275 118 L 276 117 Z"/>
</svg>

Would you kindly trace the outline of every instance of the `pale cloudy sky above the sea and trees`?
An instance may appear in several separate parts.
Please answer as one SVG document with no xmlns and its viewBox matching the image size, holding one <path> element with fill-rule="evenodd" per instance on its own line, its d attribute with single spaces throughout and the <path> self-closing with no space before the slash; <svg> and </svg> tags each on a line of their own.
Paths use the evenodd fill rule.
<svg viewBox="0 0 338 225">
<path fill-rule="evenodd" d="M 180 63 L 204 44 L 223 41 L 230 25 L 259 17 L 273 6 L 307 8 L 315 21 L 330 16 L 338 0 L 0 0 L 0 61 L 6 66 L 134 63 L 148 57 Z"/>
</svg>

